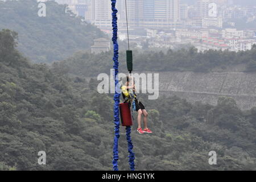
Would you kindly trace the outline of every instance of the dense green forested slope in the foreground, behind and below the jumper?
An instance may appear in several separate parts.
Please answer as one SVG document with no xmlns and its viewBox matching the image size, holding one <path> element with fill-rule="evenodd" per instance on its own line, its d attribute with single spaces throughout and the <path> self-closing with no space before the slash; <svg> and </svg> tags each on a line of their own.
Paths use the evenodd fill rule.
<svg viewBox="0 0 256 182">
<path fill-rule="evenodd" d="M 15 32 L 0 31 L 0 170 L 112 169 L 112 96 L 98 94 L 97 82 L 86 82 L 85 71 L 71 70 L 80 61 L 88 71 L 84 61 L 89 67 L 90 57 L 70 60 L 69 68 L 32 64 L 16 51 L 16 37 Z M 98 56 L 98 69 L 109 70 L 111 59 Z M 134 123 L 137 170 L 256 169 L 256 108 L 241 111 L 228 97 L 220 97 L 217 106 L 140 97 L 154 134 L 138 135 Z M 217 165 L 211 166 L 212 150 Z M 46 151 L 46 165 L 38 164 L 38 151 Z M 121 127 L 119 169 L 129 169 L 127 155 Z"/>
</svg>

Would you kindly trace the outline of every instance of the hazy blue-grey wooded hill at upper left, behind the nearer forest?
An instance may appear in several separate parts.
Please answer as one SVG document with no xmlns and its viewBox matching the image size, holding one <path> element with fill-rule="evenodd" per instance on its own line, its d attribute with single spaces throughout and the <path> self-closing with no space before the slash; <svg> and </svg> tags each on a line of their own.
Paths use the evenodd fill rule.
<svg viewBox="0 0 256 182">
<path fill-rule="evenodd" d="M 65 13 L 64 5 L 46 2 L 46 17 L 38 16 L 39 9 L 35 0 L 0 2 L 0 30 L 18 32 L 19 51 L 35 62 L 63 60 L 105 37 L 100 29 Z"/>
</svg>

